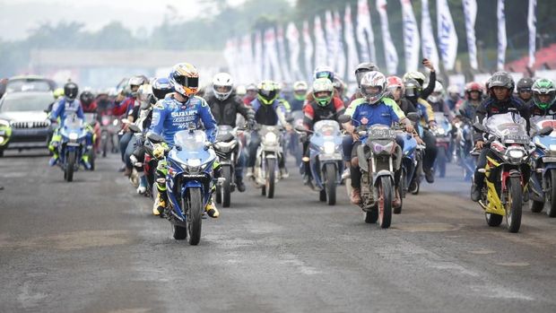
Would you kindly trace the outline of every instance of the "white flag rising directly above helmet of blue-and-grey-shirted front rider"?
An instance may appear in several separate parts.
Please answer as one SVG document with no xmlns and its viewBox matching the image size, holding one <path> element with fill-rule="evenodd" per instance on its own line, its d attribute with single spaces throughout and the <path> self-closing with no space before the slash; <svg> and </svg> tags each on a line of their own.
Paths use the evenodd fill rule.
<svg viewBox="0 0 556 313">
<path fill-rule="evenodd" d="M 357 2 L 357 42 L 359 42 L 361 48 L 361 62 L 377 63 L 375 35 L 372 32 L 367 0 Z"/>
</svg>

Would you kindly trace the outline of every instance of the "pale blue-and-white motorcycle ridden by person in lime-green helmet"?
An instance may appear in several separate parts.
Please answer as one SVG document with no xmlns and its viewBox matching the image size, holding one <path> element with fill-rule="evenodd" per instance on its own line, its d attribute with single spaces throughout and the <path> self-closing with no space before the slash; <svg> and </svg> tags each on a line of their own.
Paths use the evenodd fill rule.
<svg viewBox="0 0 556 313">
<path fill-rule="evenodd" d="M 309 139 L 309 166 L 319 191 L 319 200 L 336 204 L 336 186 L 343 172 L 342 133 L 338 123 L 331 119 L 318 121 L 311 132 L 303 126 L 296 131 L 313 133 Z M 314 186 L 311 184 L 310 187 Z"/>
</svg>

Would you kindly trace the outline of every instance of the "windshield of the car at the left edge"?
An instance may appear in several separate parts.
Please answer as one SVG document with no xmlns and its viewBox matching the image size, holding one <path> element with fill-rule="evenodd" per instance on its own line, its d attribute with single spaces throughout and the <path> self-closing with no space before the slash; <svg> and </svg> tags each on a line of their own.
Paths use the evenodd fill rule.
<svg viewBox="0 0 556 313">
<path fill-rule="evenodd" d="M 42 111 L 54 102 L 51 93 L 11 93 L 6 94 L 0 102 L 1 112 Z"/>
</svg>

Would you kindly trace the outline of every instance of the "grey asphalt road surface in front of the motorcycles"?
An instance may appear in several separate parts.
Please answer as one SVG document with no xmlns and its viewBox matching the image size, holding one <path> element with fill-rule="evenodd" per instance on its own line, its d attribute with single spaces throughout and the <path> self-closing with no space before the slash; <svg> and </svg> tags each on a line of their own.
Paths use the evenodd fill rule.
<svg viewBox="0 0 556 313">
<path fill-rule="evenodd" d="M 274 199 L 248 186 L 192 247 L 116 155 L 66 183 L 45 155 L 7 154 L 0 312 L 556 311 L 556 219 L 526 209 L 517 234 L 487 226 L 454 167 L 388 230 L 343 188 L 327 206 L 296 174 Z"/>
</svg>

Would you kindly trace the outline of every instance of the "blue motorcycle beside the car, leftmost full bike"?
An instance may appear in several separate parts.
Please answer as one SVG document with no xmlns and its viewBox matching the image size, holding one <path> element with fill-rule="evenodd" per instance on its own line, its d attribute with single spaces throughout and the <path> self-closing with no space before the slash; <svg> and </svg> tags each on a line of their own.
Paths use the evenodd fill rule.
<svg viewBox="0 0 556 313">
<path fill-rule="evenodd" d="M 62 140 L 57 146 L 57 164 L 64 170 L 66 181 L 74 180 L 74 171 L 79 170 L 80 161 L 86 150 L 86 136 L 83 119 L 76 116 L 65 117 L 64 126 L 59 129 Z"/>
</svg>

